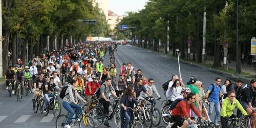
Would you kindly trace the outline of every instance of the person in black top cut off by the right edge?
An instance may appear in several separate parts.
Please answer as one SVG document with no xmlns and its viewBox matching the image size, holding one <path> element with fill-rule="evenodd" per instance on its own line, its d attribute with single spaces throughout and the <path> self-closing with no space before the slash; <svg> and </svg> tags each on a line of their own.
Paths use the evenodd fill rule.
<svg viewBox="0 0 256 128">
<path fill-rule="evenodd" d="M 255 122 L 256 122 L 256 110 L 255 110 L 255 106 L 253 103 L 253 96 L 254 96 L 254 92 L 256 90 L 256 79 L 252 79 L 250 81 L 250 86 L 247 86 L 244 89 L 244 92 L 241 94 L 241 100 L 240 103 L 242 104 L 244 110 L 246 110 L 248 115 L 252 115 L 252 127 L 255 127 Z"/>
</svg>

